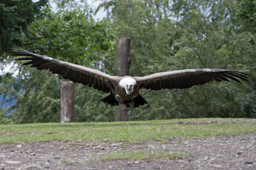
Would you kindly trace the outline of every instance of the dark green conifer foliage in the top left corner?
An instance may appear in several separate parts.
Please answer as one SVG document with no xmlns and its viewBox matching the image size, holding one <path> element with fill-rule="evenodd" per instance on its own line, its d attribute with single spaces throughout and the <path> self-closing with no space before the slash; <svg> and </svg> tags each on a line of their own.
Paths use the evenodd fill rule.
<svg viewBox="0 0 256 170">
<path fill-rule="evenodd" d="M 47 0 L 2 0 L 0 1 L 0 54 L 13 45 L 22 45 L 28 25 L 39 16 Z M 0 61 L 2 60 L 2 56 Z"/>
</svg>

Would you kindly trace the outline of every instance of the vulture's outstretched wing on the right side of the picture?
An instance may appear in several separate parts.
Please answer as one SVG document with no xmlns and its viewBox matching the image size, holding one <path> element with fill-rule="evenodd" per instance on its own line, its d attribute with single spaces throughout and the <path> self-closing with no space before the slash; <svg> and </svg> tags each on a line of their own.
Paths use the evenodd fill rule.
<svg viewBox="0 0 256 170">
<path fill-rule="evenodd" d="M 174 88 L 190 88 L 213 80 L 229 82 L 229 79 L 232 79 L 241 83 L 238 79 L 242 79 L 248 82 L 248 76 L 251 76 L 251 74 L 234 70 L 187 69 L 155 73 L 143 77 L 135 77 L 135 79 L 139 87 L 143 89 L 161 90 L 162 88 L 167 88 L 171 90 Z"/>
</svg>

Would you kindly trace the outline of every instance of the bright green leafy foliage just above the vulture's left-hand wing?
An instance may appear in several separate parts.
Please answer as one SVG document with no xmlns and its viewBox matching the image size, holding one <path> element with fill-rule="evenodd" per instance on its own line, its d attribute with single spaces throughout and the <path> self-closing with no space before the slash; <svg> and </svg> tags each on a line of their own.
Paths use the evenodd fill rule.
<svg viewBox="0 0 256 170">
<path fill-rule="evenodd" d="M 49 11 L 47 18 L 37 20 L 28 28 L 28 50 L 36 49 L 37 53 L 81 65 L 98 60 L 101 50 L 112 48 L 113 36 L 106 22 L 94 22 L 92 12 L 74 9 L 55 14 Z"/>
</svg>

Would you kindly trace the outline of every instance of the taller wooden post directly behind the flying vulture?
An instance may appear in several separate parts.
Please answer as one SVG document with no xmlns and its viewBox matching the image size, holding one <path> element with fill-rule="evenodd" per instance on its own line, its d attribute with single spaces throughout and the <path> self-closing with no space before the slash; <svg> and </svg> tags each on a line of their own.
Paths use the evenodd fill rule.
<svg viewBox="0 0 256 170">
<path fill-rule="evenodd" d="M 131 38 L 128 37 L 117 38 L 114 73 L 117 76 L 129 75 L 131 65 L 130 42 Z M 129 121 L 128 109 L 126 105 L 121 104 L 115 107 L 114 121 Z"/>
</svg>

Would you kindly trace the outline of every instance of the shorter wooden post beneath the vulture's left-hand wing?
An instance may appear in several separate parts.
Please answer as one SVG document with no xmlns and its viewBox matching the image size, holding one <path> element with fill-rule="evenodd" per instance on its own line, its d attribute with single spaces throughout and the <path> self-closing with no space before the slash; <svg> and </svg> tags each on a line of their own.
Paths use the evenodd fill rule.
<svg viewBox="0 0 256 170">
<path fill-rule="evenodd" d="M 75 87 L 73 82 L 60 83 L 60 122 L 75 122 Z"/>
</svg>

